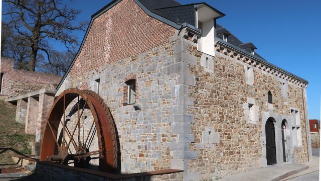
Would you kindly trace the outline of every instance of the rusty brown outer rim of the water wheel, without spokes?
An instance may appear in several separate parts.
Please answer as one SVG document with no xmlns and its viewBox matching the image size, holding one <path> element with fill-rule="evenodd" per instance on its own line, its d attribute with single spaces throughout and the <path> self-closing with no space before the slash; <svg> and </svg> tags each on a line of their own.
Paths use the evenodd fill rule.
<svg viewBox="0 0 321 181">
<path fill-rule="evenodd" d="M 85 104 L 87 104 L 91 111 L 94 120 L 93 123 L 96 126 L 98 148 L 101 151 L 99 154 L 99 170 L 115 172 L 117 169 L 118 147 L 114 121 L 103 99 L 98 94 L 90 90 L 69 88 L 57 97 L 49 111 L 44 126 L 40 160 L 45 161 L 47 156 L 55 155 L 55 147 L 58 146 L 57 134 L 61 118 L 65 118 L 64 112 L 66 111 L 66 108 L 76 97 L 79 96 L 82 97 Z M 56 128 L 56 130 L 53 130 L 53 127 Z M 63 131 L 64 130 L 65 129 L 63 128 Z M 72 138 L 73 136 L 74 135 L 72 134 Z M 69 140 L 69 145 L 70 142 L 72 142 L 71 139 Z"/>
</svg>

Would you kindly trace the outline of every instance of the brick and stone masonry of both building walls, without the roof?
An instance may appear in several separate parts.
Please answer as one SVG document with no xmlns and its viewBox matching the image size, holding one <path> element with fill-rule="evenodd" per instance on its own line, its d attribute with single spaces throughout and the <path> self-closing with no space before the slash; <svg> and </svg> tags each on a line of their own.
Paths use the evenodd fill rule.
<svg viewBox="0 0 321 181">
<path fill-rule="evenodd" d="M 121 26 L 123 17 L 129 19 L 128 26 Z M 137 34 L 141 29 L 153 43 Z M 307 161 L 305 88 L 224 52 L 216 51 L 215 57 L 199 52 L 191 37 L 183 37 L 185 29 L 182 32 L 148 17 L 133 1 L 123 0 L 94 20 L 57 92 L 70 87 L 96 91 L 95 80 L 100 79 L 99 95 L 112 113 L 119 136 L 120 171 L 175 168 L 184 170 L 185 180 L 202 180 L 266 166 L 269 117 L 275 120 L 277 164 L 283 163 L 284 119 L 288 162 Z M 124 42 L 122 38 L 129 34 Z M 125 80 L 133 74 L 138 110 L 123 105 Z M 267 102 L 268 91 L 273 104 Z M 252 114 L 248 105 L 254 105 Z M 298 112 L 298 124 L 291 110 Z M 292 126 L 301 128 L 300 146 L 292 145 Z"/>
</svg>

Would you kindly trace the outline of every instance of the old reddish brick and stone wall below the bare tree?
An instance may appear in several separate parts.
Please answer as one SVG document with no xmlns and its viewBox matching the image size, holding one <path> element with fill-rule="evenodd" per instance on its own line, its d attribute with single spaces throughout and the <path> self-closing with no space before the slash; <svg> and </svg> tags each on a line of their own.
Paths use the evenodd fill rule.
<svg viewBox="0 0 321 181">
<path fill-rule="evenodd" d="M 40 88 L 57 87 L 61 76 L 43 72 L 14 69 L 14 59 L 1 57 L 0 94 L 18 96 Z"/>
</svg>

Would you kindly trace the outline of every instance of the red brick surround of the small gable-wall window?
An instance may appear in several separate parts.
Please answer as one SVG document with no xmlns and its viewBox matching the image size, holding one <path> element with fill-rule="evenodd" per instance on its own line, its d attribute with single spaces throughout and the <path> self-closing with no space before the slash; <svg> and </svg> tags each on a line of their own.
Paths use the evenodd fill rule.
<svg viewBox="0 0 321 181">
<path fill-rule="evenodd" d="M 134 99 L 134 102 L 130 102 L 128 101 L 128 91 L 129 91 L 129 88 L 128 88 L 128 83 L 132 83 L 131 80 L 134 80 L 134 85 L 135 85 L 135 99 Z M 128 74 L 126 75 L 126 77 L 124 78 L 124 83 L 126 83 L 126 85 L 123 86 L 123 89 L 122 89 L 122 104 L 125 106 L 125 105 L 129 105 L 129 104 L 134 104 L 137 102 L 138 100 L 138 81 L 137 81 L 137 77 L 136 77 L 136 74 L 135 73 L 131 73 L 131 74 Z"/>
</svg>

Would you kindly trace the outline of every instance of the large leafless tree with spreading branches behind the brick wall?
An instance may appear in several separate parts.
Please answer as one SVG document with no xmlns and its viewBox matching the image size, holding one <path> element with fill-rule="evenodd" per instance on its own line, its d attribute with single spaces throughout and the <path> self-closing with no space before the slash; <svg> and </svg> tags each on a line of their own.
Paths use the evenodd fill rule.
<svg viewBox="0 0 321 181">
<path fill-rule="evenodd" d="M 80 11 L 68 8 L 61 0 L 3 0 L 8 5 L 3 14 L 9 19 L 8 26 L 20 36 L 14 37 L 24 47 L 30 48 L 29 67 L 35 71 L 37 56 L 40 52 L 47 56 L 49 63 L 50 49 L 48 40 L 64 43 L 68 51 L 78 46 L 74 30 L 84 30 L 86 22 L 74 25 Z"/>
</svg>

